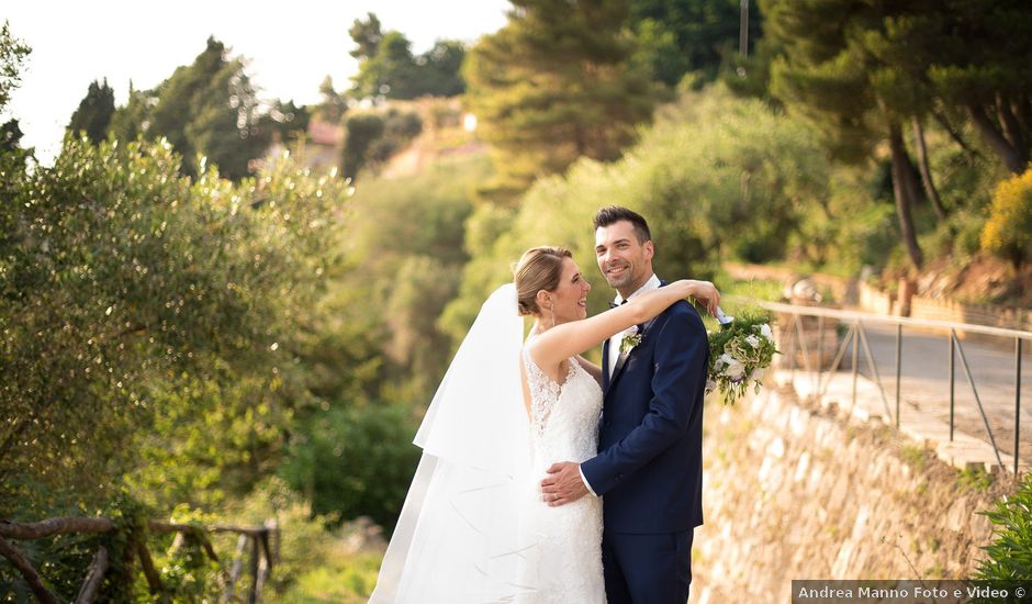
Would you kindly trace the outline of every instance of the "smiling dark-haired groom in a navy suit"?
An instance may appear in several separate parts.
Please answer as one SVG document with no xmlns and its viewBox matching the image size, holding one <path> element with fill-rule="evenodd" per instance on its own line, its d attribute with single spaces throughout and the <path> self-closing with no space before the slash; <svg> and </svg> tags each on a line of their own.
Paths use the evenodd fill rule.
<svg viewBox="0 0 1032 604">
<path fill-rule="evenodd" d="M 652 272 L 649 225 L 631 210 L 598 211 L 595 253 L 619 293 L 617 304 L 665 284 Z M 639 326 L 638 335 L 640 340 L 625 332 L 603 345 L 598 455 L 583 463 L 553 463 L 541 491 L 549 505 L 588 493 L 605 496 L 602 556 L 609 604 L 684 604 L 693 533 L 703 524 L 709 343 L 687 302 Z"/>
</svg>

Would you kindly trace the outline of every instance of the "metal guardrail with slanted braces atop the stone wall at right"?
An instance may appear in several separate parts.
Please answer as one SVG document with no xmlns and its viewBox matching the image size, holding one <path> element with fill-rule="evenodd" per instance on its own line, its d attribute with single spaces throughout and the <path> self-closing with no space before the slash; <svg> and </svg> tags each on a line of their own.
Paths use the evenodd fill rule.
<svg viewBox="0 0 1032 604">
<path fill-rule="evenodd" d="M 800 316 L 814 316 L 818 320 L 818 335 L 817 335 L 817 390 L 818 396 L 823 396 L 827 392 L 828 385 L 831 383 L 831 378 L 829 377 L 827 381 L 823 380 L 823 328 L 826 318 L 834 318 L 842 323 L 849 325 L 849 331 L 845 334 L 845 337 L 842 338 L 842 343 L 839 346 L 838 351 L 835 353 L 834 360 L 831 363 L 828 373 L 834 373 L 839 369 L 839 365 L 842 362 L 842 359 L 845 356 L 845 349 L 848 346 L 852 345 L 852 377 L 853 377 L 853 404 L 856 404 L 856 378 L 859 373 L 859 348 L 863 345 L 864 356 L 866 357 L 867 366 L 875 378 L 875 382 L 878 385 L 878 391 L 882 394 L 882 402 L 885 405 L 886 414 L 894 418 L 896 427 L 899 428 L 899 406 L 900 406 L 900 381 L 901 381 L 901 368 L 902 368 L 902 338 L 904 338 L 904 327 L 915 327 L 921 329 L 934 329 L 938 332 L 949 333 L 950 338 L 950 362 L 949 362 L 949 372 L 950 372 L 950 441 L 953 441 L 954 429 L 955 429 L 955 412 L 956 412 L 956 357 L 960 356 L 961 363 L 964 368 L 964 372 L 967 376 L 967 381 L 971 384 L 972 393 L 975 396 L 975 403 L 978 405 L 978 412 L 981 415 L 983 423 L 986 427 L 986 434 L 989 437 L 989 441 L 992 445 L 992 450 L 996 454 L 997 462 L 1000 467 L 1003 467 L 1003 462 L 1000 458 L 1000 449 L 996 443 L 996 437 L 992 434 L 992 428 L 989 426 L 989 420 L 986 415 L 984 405 L 981 404 L 981 398 L 978 395 L 978 388 L 975 384 L 975 377 L 972 374 L 971 366 L 967 362 L 967 357 L 964 354 L 964 347 L 961 344 L 960 338 L 957 338 L 957 332 L 967 333 L 967 334 L 981 334 L 986 336 L 994 336 L 1000 338 L 1012 338 L 1014 340 L 1014 474 L 1018 474 L 1019 471 L 1019 450 L 1020 450 L 1020 434 L 1021 434 L 1021 349 L 1022 340 L 1032 342 L 1032 332 L 1022 332 L 1019 329 L 1005 329 L 1001 327 L 989 327 L 986 325 L 972 325 L 967 323 L 952 323 L 947 321 L 928 321 L 919 318 L 908 318 L 899 316 L 885 316 L 877 315 L 872 313 L 856 312 L 856 311 L 841 311 L 835 309 L 826 309 L 820 306 L 801 306 L 794 304 L 782 304 L 777 302 L 753 302 L 756 305 L 766 309 L 774 313 L 788 314 L 792 315 L 792 320 L 788 325 L 783 327 L 783 334 L 787 342 L 782 343 L 785 348 L 788 348 L 788 345 L 792 345 L 792 348 L 788 350 L 782 350 L 787 357 L 792 360 L 792 370 L 796 369 L 796 347 L 799 347 L 799 351 L 803 353 L 803 359 L 805 369 L 811 371 L 809 367 L 810 355 L 807 349 L 807 338 L 805 335 L 805 328 L 803 322 L 799 320 Z M 896 409 L 895 413 L 889 409 L 888 398 L 885 394 L 885 387 L 882 383 L 882 377 L 878 373 L 877 365 L 874 362 L 874 355 L 871 353 L 871 345 L 867 337 L 867 332 L 864 328 L 865 323 L 880 323 L 887 325 L 896 325 Z M 794 327 L 794 328 L 793 328 Z"/>
</svg>

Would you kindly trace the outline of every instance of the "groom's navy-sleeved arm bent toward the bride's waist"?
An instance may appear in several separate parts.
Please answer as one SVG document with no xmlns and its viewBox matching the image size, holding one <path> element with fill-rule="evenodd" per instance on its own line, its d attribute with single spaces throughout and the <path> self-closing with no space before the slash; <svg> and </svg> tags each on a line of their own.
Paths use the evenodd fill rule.
<svg viewBox="0 0 1032 604">
<path fill-rule="evenodd" d="M 709 339 L 698 314 L 676 306 L 657 336 L 653 396 L 644 420 L 622 440 L 581 463 L 582 476 L 598 495 L 684 436 L 695 406 L 703 403 L 698 392 L 706 380 Z"/>
</svg>

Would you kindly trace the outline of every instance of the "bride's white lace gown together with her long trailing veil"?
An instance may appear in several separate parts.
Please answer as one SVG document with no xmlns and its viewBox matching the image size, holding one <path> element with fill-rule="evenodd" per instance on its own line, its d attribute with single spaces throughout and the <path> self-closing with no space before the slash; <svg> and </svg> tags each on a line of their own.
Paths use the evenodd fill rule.
<svg viewBox="0 0 1032 604">
<path fill-rule="evenodd" d="M 416 434 L 423 458 L 370 604 L 605 602 L 602 501 L 549 507 L 540 490 L 553 462 L 595 455 L 602 390 L 573 358 L 552 381 L 523 335 L 509 283 L 484 302 Z"/>
</svg>

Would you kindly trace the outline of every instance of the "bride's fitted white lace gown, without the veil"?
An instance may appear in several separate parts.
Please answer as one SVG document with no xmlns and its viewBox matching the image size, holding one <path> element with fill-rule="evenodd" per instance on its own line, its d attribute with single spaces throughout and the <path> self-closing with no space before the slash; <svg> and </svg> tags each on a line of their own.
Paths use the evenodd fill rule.
<svg viewBox="0 0 1032 604">
<path fill-rule="evenodd" d="M 562 384 L 545 374 L 524 350 L 530 390 L 531 467 L 546 476 L 556 461 L 585 461 L 597 452 L 602 389 L 576 361 Z M 539 482 L 529 489 L 528 528 L 540 535 L 541 547 L 525 568 L 524 582 L 535 593 L 516 599 L 527 604 L 604 603 L 602 575 L 602 500 L 587 494 L 573 503 L 549 507 Z"/>
</svg>

